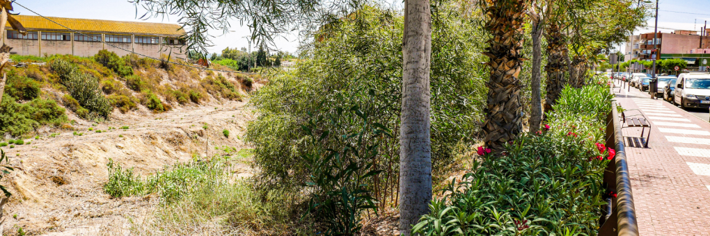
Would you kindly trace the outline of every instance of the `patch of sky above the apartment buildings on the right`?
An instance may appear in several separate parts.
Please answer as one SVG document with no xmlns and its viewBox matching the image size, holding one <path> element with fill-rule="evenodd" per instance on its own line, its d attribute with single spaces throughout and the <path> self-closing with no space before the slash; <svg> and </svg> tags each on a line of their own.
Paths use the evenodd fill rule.
<svg viewBox="0 0 710 236">
<path fill-rule="evenodd" d="M 653 1 L 653 0 L 651 0 Z M 653 1 L 655 4 L 655 1 Z M 658 1 L 658 31 L 671 33 L 673 30 L 700 31 L 705 21 L 710 21 L 710 0 L 660 0 Z M 637 28 L 634 35 L 653 33 L 655 18 L 649 18 L 646 27 Z M 708 22 L 710 28 L 710 22 Z M 624 45 L 622 44 L 623 52 Z"/>
</svg>

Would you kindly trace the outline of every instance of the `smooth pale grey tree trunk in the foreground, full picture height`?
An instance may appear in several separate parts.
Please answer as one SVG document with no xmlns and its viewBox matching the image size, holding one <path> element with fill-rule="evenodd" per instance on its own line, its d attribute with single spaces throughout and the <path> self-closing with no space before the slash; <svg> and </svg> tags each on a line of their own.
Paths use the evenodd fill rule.
<svg viewBox="0 0 710 236">
<path fill-rule="evenodd" d="M 429 0 L 405 0 L 400 128 L 400 233 L 429 212 L 432 199 L 429 68 L 432 55 Z"/>
</svg>

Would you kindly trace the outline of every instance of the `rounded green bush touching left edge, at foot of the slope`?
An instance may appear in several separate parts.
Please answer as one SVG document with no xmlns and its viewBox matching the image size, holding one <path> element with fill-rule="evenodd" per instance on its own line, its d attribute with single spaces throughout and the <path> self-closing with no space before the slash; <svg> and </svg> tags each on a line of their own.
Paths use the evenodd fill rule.
<svg viewBox="0 0 710 236">
<path fill-rule="evenodd" d="M 0 103 L 0 134 L 21 136 L 43 125 L 58 127 L 62 123 L 67 123 L 65 109 L 53 100 L 17 103 L 12 96 L 3 96 Z"/>
</svg>

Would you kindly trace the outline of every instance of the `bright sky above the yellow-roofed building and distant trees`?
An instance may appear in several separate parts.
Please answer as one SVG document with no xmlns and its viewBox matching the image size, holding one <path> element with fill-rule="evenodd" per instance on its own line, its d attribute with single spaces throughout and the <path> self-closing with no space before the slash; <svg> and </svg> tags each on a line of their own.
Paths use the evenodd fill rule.
<svg viewBox="0 0 710 236">
<path fill-rule="evenodd" d="M 43 16 L 111 21 L 178 23 L 177 16 L 170 16 L 169 18 L 148 18 L 146 20 L 140 19 L 146 11 L 139 6 L 136 16 L 136 6 L 127 0 L 17 0 L 16 2 Z M 15 9 L 13 13 L 37 16 L 35 13 L 17 4 L 13 4 L 13 6 Z M 212 39 L 214 46 L 207 48 L 207 50 L 210 53 L 217 52 L 217 54 L 219 54 L 225 47 L 249 47 L 249 41 L 244 38 L 244 36 L 250 35 L 249 28 L 246 26 L 241 27 L 238 21 L 234 21 L 231 23 L 230 30 L 234 32 L 229 32 L 224 35 L 222 34 L 222 30 L 210 31 L 210 34 L 219 36 Z M 293 53 L 297 50 L 298 40 L 295 35 L 283 35 L 283 37 L 275 38 L 275 45 L 279 50 Z M 258 50 L 258 47 L 252 45 L 252 51 L 253 50 Z"/>
</svg>

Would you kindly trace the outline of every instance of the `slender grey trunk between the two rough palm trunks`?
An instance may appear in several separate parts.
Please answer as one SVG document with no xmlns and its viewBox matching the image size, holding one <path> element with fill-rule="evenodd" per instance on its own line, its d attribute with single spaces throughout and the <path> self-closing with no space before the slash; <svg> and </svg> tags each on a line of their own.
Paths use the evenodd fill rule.
<svg viewBox="0 0 710 236">
<path fill-rule="evenodd" d="M 530 107 L 530 132 L 540 130 L 542 123 L 542 98 L 540 97 L 540 64 L 542 63 L 542 50 L 540 40 L 542 40 L 542 28 L 540 22 L 532 23 L 532 81 L 530 89 L 532 93 Z"/>
</svg>

